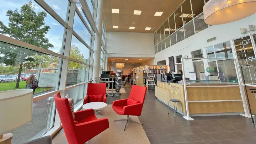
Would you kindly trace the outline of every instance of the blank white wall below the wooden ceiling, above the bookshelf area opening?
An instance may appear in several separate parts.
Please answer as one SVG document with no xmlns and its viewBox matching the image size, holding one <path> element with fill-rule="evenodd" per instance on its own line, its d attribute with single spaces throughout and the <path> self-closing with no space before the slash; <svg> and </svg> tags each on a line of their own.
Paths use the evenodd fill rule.
<svg viewBox="0 0 256 144">
<path fill-rule="evenodd" d="M 154 34 L 107 32 L 108 57 L 154 57 Z"/>
</svg>

